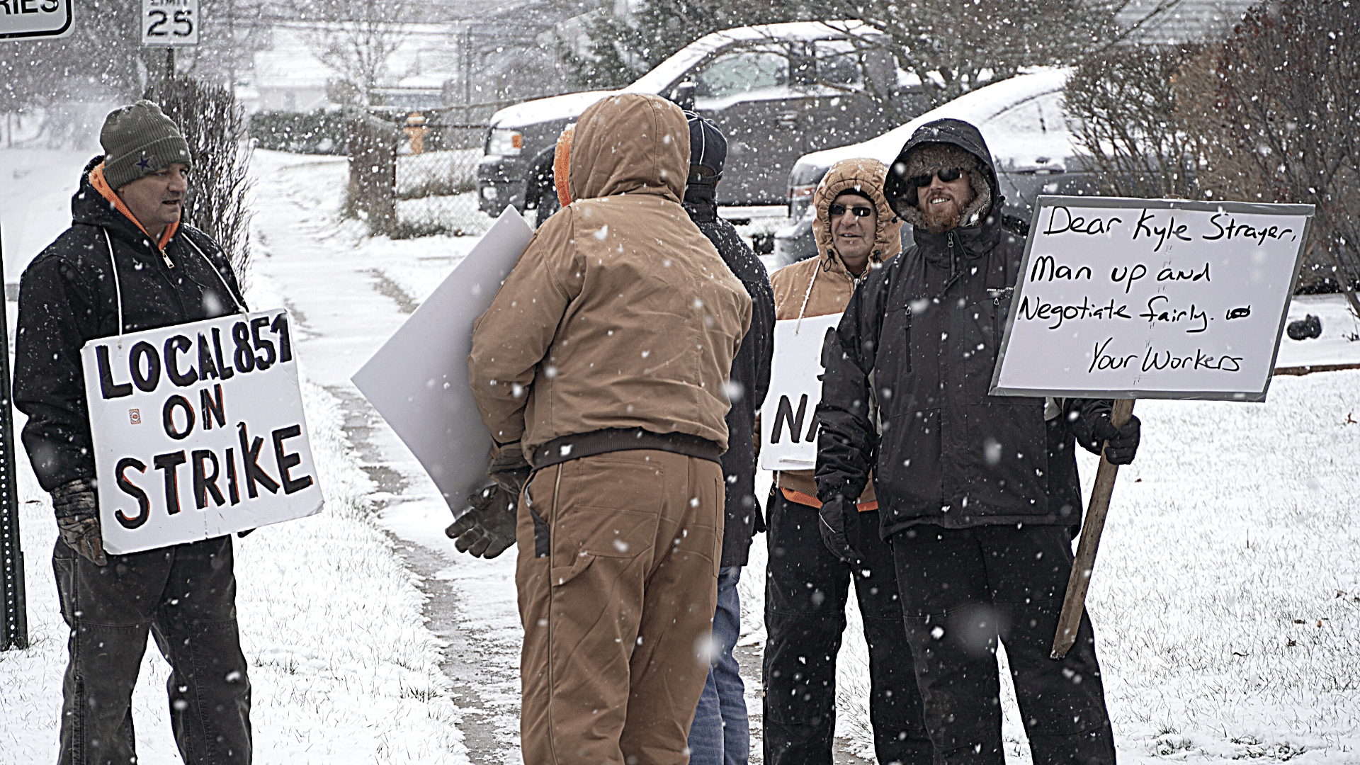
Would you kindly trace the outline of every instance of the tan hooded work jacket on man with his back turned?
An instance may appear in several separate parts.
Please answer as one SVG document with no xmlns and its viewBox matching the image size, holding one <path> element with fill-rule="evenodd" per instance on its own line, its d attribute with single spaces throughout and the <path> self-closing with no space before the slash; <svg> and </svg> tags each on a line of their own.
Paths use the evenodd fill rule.
<svg viewBox="0 0 1360 765">
<path fill-rule="evenodd" d="M 680 199 L 690 127 L 656 95 L 586 109 L 568 207 L 529 241 L 472 332 L 468 373 L 491 437 L 525 455 L 613 427 L 728 445 L 725 382 L 751 298 Z"/>
</svg>

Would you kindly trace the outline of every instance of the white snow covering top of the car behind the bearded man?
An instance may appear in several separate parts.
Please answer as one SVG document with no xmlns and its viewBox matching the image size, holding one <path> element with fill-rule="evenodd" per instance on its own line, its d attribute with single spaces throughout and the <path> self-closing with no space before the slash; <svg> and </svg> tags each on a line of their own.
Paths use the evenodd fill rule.
<svg viewBox="0 0 1360 765">
<path fill-rule="evenodd" d="M 987 135 L 985 125 L 987 120 L 996 117 L 1005 109 L 1031 98 L 1061 91 L 1069 76 L 1072 76 L 1070 68 L 1044 68 L 1032 74 L 1016 75 L 998 83 L 979 87 L 972 93 L 966 93 L 942 106 L 937 106 L 925 114 L 921 114 L 904 125 L 892 128 L 881 136 L 872 137 L 862 143 L 805 154 L 798 159 L 798 165 L 820 165 L 830 167 L 842 159 L 851 159 L 857 157 L 869 157 L 888 165 L 898 158 L 898 152 L 902 151 L 902 144 L 907 143 L 907 139 L 911 137 L 911 133 L 917 132 L 917 128 L 925 125 L 926 123 L 947 117 L 964 120 L 982 128 L 983 137 L 987 140 L 989 148 L 991 148 L 993 155 L 997 157 L 998 163 L 1001 163 L 1000 158 L 1010 154 L 1004 150 L 1008 136 Z M 1050 148 L 1065 150 L 1059 154 L 1059 157 L 1069 155 L 1070 148 L 1066 146 L 1068 132 L 1065 125 L 1061 131 L 1054 131 L 1054 142 L 1044 143 L 1054 143 Z"/>
</svg>

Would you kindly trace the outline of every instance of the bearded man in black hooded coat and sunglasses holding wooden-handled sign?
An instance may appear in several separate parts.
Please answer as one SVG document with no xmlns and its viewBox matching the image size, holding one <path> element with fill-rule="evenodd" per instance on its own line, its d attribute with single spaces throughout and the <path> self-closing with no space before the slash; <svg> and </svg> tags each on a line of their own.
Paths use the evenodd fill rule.
<svg viewBox="0 0 1360 765">
<path fill-rule="evenodd" d="M 817 453 L 827 546 L 870 471 L 938 762 L 1001 765 L 997 638 L 1036 765 L 1112 764 L 1091 622 L 1049 657 L 1081 523 L 1074 445 L 1133 460 L 1108 400 L 990 396 L 1024 240 L 1006 230 L 978 129 L 918 129 L 887 182 L 914 245 L 855 291 L 828 338 Z M 880 436 L 881 433 L 881 436 Z"/>
</svg>

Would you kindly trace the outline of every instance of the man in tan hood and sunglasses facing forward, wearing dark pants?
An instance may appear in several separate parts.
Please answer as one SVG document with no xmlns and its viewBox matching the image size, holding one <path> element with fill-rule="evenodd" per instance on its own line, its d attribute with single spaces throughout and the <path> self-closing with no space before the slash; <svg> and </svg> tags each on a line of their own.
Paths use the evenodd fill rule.
<svg viewBox="0 0 1360 765">
<path fill-rule="evenodd" d="M 775 319 L 840 313 L 860 282 L 902 250 L 902 221 L 883 196 L 887 167 L 846 159 L 817 185 L 817 256 L 771 278 Z M 778 351 L 777 351 L 778 353 Z M 808 363 L 817 363 L 809 358 Z M 771 381 L 771 391 L 774 391 Z M 933 749 L 906 641 L 892 550 L 879 539 L 873 482 L 846 534 L 864 557 L 858 570 L 821 542 L 813 471 L 781 471 L 766 508 L 764 761 L 830 764 L 835 732 L 835 656 L 845 632 L 846 584 L 854 580 L 870 652 L 869 719 L 879 762 L 925 765 Z M 868 573 L 866 573 L 868 572 Z"/>
</svg>

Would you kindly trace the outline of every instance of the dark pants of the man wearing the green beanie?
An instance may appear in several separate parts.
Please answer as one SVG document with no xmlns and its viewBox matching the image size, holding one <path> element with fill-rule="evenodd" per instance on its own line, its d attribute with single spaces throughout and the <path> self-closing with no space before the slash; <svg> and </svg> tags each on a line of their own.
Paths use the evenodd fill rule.
<svg viewBox="0 0 1360 765">
<path fill-rule="evenodd" d="M 52 568 L 71 626 L 58 765 L 137 762 L 132 687 L 147 632 L 170 662 L 170 726 L 185 764 L 249 765 L 231 538 L 109 555 L 106 566 L 58 539 Z"/>
</svg>

